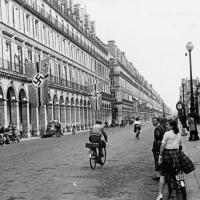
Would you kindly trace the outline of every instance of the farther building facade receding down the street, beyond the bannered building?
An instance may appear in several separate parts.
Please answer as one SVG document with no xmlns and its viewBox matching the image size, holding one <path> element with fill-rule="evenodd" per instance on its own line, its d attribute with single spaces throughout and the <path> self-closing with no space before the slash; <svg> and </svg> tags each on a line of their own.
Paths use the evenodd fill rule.
<svg viewBox="0 0 200 200">
<path fill-rule="evenodd" d="M 169 109 L 164 104 L 151 84 L 139 74 L 121 52 L 115 41 L 108 41 L 110 58 L 112 119 L 121 122 L 139 116 L 151 119 L 153 116 L 167 114 Z"/>
</svg>

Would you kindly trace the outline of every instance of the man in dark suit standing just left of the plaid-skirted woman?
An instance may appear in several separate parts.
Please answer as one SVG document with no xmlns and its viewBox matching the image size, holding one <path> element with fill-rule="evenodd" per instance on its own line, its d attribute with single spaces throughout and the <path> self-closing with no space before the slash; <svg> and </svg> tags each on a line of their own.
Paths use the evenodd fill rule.
<svg viewBox="0 0 200 200">
<path fill-rule="evenodd" d="M 158 158 L 160 153 L 160 146 L 163 139 L 163 135 L 165 133 L 165 128 L 160 124 L 160 119 L 158 117 L 154 117 L 152 119 L 152 123 L 155 126 L 154 129 L 154 141 L 153 141 L 153 157 L 154 157 L 154 164 L 155 164 L 155 174 L 153 176 L 154 180 L 160 179 L 160 166 L 158 164 Z"/>
</svg>

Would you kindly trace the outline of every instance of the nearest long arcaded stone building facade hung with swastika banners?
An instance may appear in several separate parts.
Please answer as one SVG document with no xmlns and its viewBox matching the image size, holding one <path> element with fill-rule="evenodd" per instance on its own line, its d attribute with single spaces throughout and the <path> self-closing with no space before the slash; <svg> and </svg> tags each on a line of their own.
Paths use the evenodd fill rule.
<svg viewBox="0 0 200 200">
<path fill-rule="evenodd" d="M 0 123 L 5 127 L 14 123 L 29 137 L 50 120 L 70 131 L 72 125 L 85 130 L 96 119 L 111 119 L 108 50 L 79 4 L 0 0 L 0 47 Z M 46 58 L 48 102 L 40 104 L 27 66 L 36 70 L 35 63 Z"/>
</svg>

